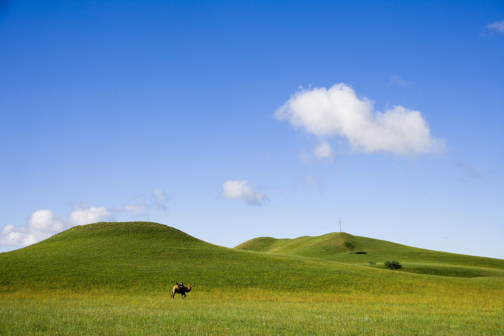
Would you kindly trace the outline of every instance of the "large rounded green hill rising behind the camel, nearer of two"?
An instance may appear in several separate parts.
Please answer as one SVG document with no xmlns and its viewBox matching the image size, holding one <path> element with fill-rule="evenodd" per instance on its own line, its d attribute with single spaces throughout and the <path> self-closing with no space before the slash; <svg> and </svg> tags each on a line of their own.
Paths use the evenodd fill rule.
<svg viewBox="0 0 504 336">
<path fill-rule="evenodd" d="M 264 289 L 284 292 L 420 293 L 430 288 L 492 288 L 491 277 L 433 277 L 320 258 L 212 245 L 166 225 L 95 223 L 37 244 L 0 253 L 0 290 L 169 291 L 175 282 L 199 291 Z M 497 280 L 497 278 L 494 278 Z M 496 287 L 495 287 L 496 286 Z M 423 292 L 422 292 L 423 293 Z"/>
</svg>

